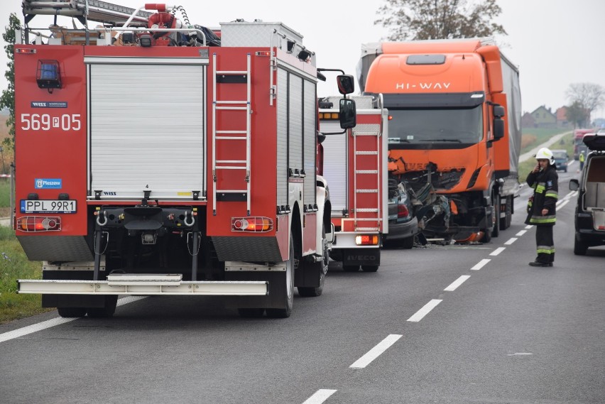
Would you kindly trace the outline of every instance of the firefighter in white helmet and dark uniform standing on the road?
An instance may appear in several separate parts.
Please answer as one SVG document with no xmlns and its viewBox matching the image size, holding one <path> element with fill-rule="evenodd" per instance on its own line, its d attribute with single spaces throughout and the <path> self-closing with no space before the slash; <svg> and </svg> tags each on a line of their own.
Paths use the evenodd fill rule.
<svg viewBox="0 0 605 404">
<path fill-rule="evenodd" d="M 556 204 L 559 198 L 559 176 L 555 157 L 548 148 L 540 148 L 535 153 L 538 164 L 528 174 L 527 182 L 533 188 L 533 196 L 528 202 L 528 217 L 525 224 L 535 225 L 535 244 L 538 256 L 530 266 L 552 266 L 555 261 L 555 241 L 552 227 L 557 221 Z"/>
</svg>

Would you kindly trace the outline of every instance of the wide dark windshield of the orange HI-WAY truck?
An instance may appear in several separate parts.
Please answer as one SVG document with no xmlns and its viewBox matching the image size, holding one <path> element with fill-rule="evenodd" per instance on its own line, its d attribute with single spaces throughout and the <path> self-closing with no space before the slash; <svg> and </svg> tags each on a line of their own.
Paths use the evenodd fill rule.
<svg viewBox="0 0 605 404">
<path fill-rule="evenodd" d="M 388 108 L 388 143 L 477 143 L 483 138 L 481 108 Z"/>
</svg>

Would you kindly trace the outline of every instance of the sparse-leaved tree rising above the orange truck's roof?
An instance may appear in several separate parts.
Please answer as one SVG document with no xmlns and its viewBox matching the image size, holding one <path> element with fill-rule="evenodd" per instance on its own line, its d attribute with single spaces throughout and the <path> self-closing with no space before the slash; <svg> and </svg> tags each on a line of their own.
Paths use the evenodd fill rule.
<svg viewBox="0 0 605 404">
<path fill-rule="evenodd" d="M 388 40 L 484 38 L 506 35 L 491 22 L 501 13 L 496 0 L 385 0 L 374 25 L 388 28 Z"/>
</svg>

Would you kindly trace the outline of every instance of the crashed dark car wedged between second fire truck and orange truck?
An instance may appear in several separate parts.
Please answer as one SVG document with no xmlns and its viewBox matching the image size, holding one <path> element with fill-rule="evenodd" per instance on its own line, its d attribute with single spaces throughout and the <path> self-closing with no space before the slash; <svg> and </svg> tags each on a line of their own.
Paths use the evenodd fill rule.
<svg viewBox="0 0 605 404">
<path fill-rule="evenodd" d="M 388 180 L 388 246 L 411 249 L 418 234 L 411 189 L 405 182 Z"/>
</svg>

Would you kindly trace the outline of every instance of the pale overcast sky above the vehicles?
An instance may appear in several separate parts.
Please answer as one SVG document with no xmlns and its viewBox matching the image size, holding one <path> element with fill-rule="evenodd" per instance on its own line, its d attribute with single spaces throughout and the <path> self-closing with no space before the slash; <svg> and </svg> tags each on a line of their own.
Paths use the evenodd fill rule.
<svg viewBox="0 0 605 404">
<path fill-rule="evenodd" d="M 109 2 L 133 9 L 143 4 L 135 0 Z M 386 29 L 374 26 L 376 9 L 383 4 L 380 0 L 307 0 L 297 5 L 283 1 L 179 0 L 174 4 L 185 7 L 192 23 L 208 27 L 236 18 L 280 21 L 302 34 L 303 44 L 317 54 L 318 67 L 340 68 L 351 75 L 355 74 L 361 43 L 387 36 Z M 523 111 L 533 111 L 540 105 L 555 111 L 568 104 L 565 92 L 572 83 L 591 82 L 605 87 L 604 0 L 498 0 L 498 4 L 502 13 L 496 21 L 508 36 L 496 40 L 503 45 L 507 58 L 519 67 Z M 8 24 L 11 12 L 23 22 L 21 0 L 0 0 L 1 26 Z M 48 26 L 50 22 L 48 17 L 36 16 L 30 26 Z M 4 28 L 1 31 L 4 33 Z M 0 41 L 0 71 L 4 72 L 6 43 Z M 328 80 L 329 84 L 320 83 L 320 96 L 338 94 L 332 84 L 334 77 Z M 5 88 L 2 75 L 0 89 Z M 605 109 L 595 111 L 592 118 L 596 117 L 605 117 Z"/>
</svg>

